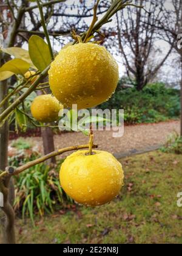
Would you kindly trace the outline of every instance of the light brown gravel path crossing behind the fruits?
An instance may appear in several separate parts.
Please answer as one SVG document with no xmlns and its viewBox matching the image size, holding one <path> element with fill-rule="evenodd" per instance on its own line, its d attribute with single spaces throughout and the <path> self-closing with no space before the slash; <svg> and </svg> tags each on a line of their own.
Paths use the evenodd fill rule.
<svg viewBox="0 0 182 256">
<path fill-rule="evenodd" d="M 144 148 L 164 144 L 169 134 L 174 132 L 174 130 L 180 132 L 180 121 L 125 126 L 124 136 L 121 138 L 113 138 L 112 131 L 95 132 L 95 143 L 98 143 L 99 149 L 109 151 L 112 154 L 134 153 Z M 25 140 L 31 140 L 36 145 L 38 151 L 42 151 L 41 138 L 27 138 Z M 56 149 L 86 144 L 87 141 L 88 138 L 83 133 L 62 133 L 62 135 L 55 135 Z"/>
</svg>

